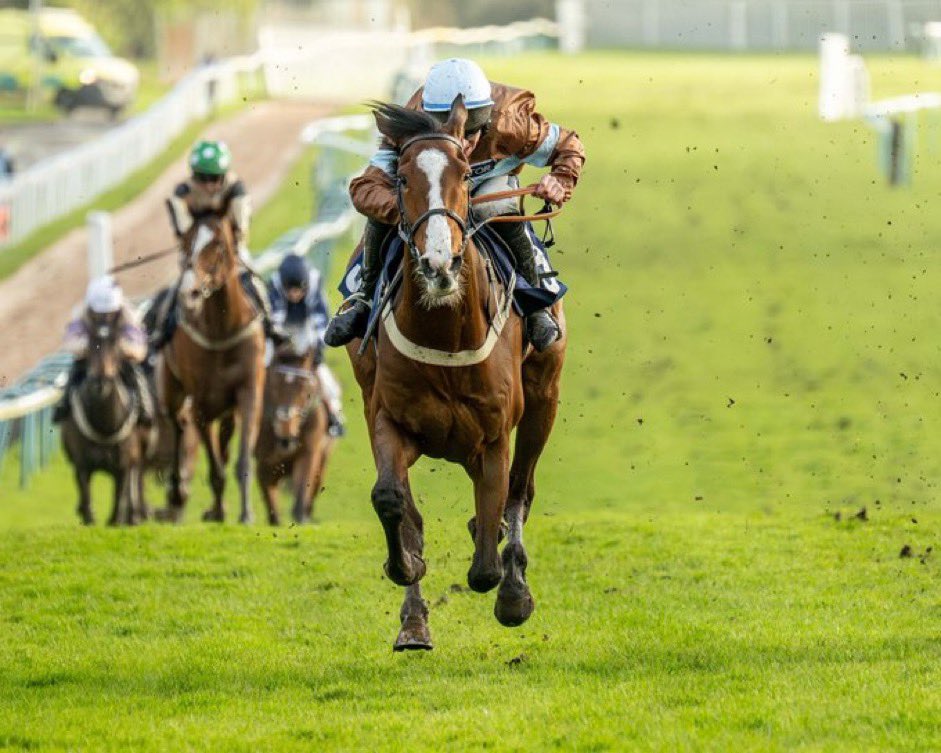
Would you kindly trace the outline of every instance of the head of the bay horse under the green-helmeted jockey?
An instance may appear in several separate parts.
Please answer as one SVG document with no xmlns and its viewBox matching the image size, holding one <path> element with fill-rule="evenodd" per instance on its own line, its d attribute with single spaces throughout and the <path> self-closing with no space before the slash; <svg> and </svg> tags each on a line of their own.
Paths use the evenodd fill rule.
<svg viewBox="0 0 941 753">
<path fill-rule="evenodd" d="M 238 266 L 235 247 L 235 231 L 225 210 L 198 218 L 186 231 L 183 251 L 188 265 L 181 291 L 188 306 L 198 308 L 235 274 Z"/>
</svg>

